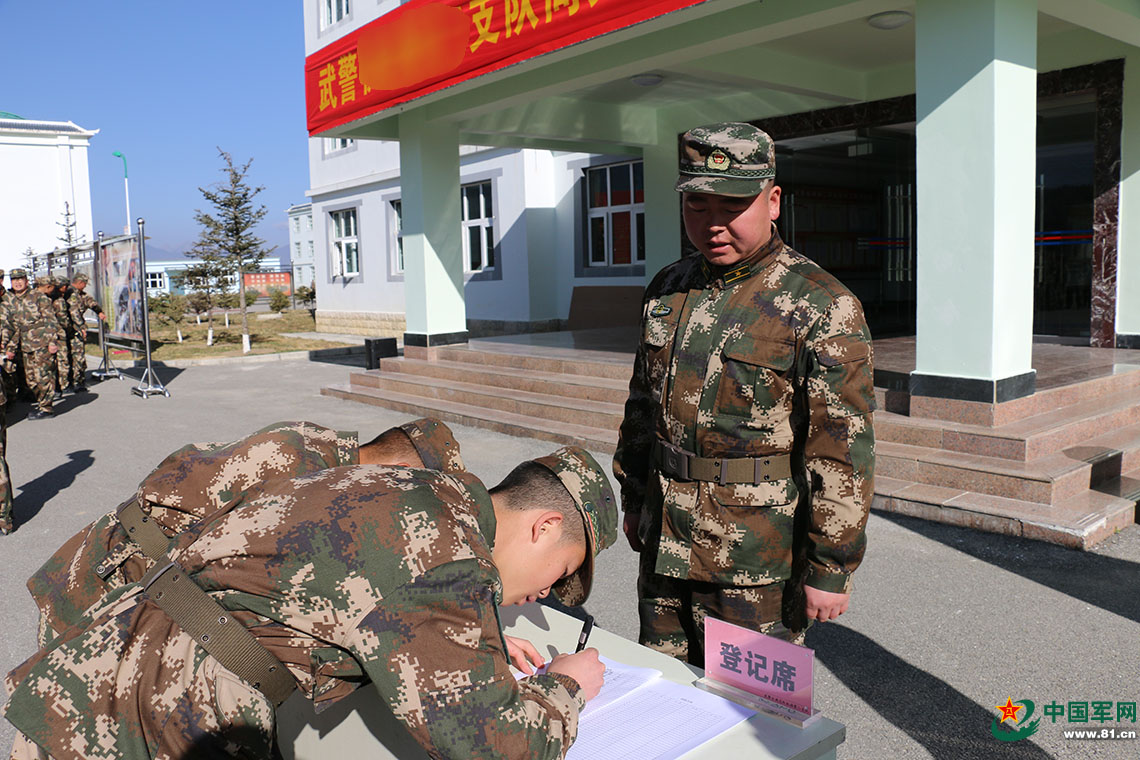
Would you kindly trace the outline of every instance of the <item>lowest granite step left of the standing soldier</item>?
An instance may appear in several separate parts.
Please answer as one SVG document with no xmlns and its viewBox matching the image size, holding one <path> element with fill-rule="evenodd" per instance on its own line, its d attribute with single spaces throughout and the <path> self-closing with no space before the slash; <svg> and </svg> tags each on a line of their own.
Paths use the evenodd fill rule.
<svg viewBox="0 0 1140 760">
<path fill-rule="evenodd" d="M 372 392 L 368 392 L 372 391 Z M 580 446 L 591 451 L 613 453 L 617 449 L 617 431 L 587 427 L 572 423 L 553 423 L 540 417 L 496 411 L 457 401 L 423 399 L 404 393 L 381 393 L 375 389 L 360 389 L 348 384 L 334 384 L 320 389 L 321 395 L 372 403 L 409 415 L 437 417 L 443 422 L 458 423 L 471 427 L 482 427 L 498 433 L 532 438 L 553 443 Z"/>
</svg>

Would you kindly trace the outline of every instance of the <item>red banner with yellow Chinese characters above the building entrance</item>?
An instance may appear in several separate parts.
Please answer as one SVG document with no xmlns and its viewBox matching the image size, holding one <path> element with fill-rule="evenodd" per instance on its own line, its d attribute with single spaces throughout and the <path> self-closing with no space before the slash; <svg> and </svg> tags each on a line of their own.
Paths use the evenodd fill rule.
<svg viewBox="0 0 1140 760">
<path fill-rule="evenodd" d="M 412 0 L 304 62 L 309 134 L 707 0 Z"/>
</svg>

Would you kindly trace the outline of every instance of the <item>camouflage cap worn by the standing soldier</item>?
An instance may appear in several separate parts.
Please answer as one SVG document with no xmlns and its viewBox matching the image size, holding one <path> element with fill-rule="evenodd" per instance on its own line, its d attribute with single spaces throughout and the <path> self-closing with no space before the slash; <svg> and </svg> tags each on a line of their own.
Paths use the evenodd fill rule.
<svg viewBox="0 0 1140 760">
<path fill-rule="evenodd" d="M 776 175 L 775 144 L 751 124 L 697 126 L 681 144 L 677 190 L 751 197 Z"/>
</svg>

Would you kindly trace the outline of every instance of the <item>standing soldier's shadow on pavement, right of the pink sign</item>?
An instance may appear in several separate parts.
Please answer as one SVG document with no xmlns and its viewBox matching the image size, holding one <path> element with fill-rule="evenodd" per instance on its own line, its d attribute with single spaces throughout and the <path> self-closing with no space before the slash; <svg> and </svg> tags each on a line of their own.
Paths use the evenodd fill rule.
<svg viewBox="0 0 1140 760">
<path fill-rule="evenodd" d="M 844 686 L 935 760 L 1045 760 L 1032 739 L 1004 744 L 990 734 L 997 712 L 839 623 L 813 626 L 807 646 Z"/>
</svg>

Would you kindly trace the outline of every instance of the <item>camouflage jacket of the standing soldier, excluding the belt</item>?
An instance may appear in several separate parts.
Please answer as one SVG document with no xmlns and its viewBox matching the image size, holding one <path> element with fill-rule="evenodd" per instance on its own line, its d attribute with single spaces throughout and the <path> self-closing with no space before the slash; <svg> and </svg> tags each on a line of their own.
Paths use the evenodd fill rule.
<svg viewBox="0 0 1140 760">
<path fill-rule="evenodd" d="M 791 578 L 795 550 L 797 577 L 847 590 L 873 493 L 873 404 L 858 300 L 774 231 L 727 271 L 700 254 L 661 270 L 613 460 L 654 572 L 762 586 Z M 792 477 L 674 480 L 653 464 L 654 439 L 700 457 L 790 455 Z"/>
</svg>

